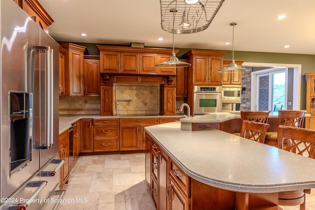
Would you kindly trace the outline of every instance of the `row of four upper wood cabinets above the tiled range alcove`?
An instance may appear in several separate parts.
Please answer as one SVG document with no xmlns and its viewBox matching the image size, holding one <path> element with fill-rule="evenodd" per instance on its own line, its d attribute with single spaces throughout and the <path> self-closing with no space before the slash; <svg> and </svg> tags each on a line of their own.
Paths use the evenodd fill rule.
<svg viewBox="0 0 315 210">
<path fill-rule="evenodd" d="M 158 68 L 167 61 L 171 49 L 97 45 L 100 51 L 100 73 L 175 75 L 175 68 Z M 179 50 L 176 50 L 177 53 Z"/>
</svg>

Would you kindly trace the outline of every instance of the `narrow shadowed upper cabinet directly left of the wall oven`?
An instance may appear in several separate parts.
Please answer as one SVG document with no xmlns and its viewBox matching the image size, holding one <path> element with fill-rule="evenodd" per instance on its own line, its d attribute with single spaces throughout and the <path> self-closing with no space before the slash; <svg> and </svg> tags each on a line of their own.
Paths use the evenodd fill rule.
<svg viewBox="0 0 315 210">
<path fill-rule="evenodd" d="M 176 97 L 187 97 L 188 67 L 177 68 L 176 75 Z"/>
</svg>

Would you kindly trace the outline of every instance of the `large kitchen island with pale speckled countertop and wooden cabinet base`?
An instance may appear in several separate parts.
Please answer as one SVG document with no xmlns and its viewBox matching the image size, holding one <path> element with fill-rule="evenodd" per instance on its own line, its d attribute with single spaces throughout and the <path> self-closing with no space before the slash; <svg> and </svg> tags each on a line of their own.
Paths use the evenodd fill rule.
<svg viewBox="0 0 315 210">
<path fill-rule="evenodd" d="M 181 122 L 145 130 L 146 183 L 154 195 L 158 192 L 158 209 L 164 202 L 184 209 L 278 209 L 278 192 L 315 188 L 314 159 L 214 128 L 183 131 Z M 185 176 L 186 191 L 181 188 Z"/>
</svg>

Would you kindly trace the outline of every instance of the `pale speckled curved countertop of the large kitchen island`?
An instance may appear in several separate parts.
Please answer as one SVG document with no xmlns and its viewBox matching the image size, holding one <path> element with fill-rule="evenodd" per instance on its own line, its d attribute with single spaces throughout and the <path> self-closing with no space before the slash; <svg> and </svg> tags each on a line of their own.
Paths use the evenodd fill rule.
<svg viewBox="0 0 315 210">
<path fill-rule="evenodd" d="M 315 159 L 217 129 L 182 131 L 181 123 L 145 127 L 191 178 L 240 192 L 315 188 Z"/>
</svg>

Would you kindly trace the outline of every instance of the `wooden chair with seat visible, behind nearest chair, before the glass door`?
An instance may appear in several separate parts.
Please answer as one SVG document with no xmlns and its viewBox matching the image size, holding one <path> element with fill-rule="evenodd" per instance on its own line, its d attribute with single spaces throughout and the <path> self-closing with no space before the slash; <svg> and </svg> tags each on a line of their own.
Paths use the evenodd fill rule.
<svg viewBox="0 0 315 210">
<path fill-rule="evenodd" d="M 286 125 L 292 127 L 302 127 L 304 122 L 304 116 L 306 111 L 300 110 L 279 110 L 278 111 L 278 126 Z M 277 144 L 278 132 L 267 132 L 266 133 L 266 144 L 276 145 Z"/>
</svg>

